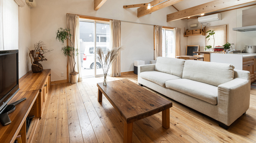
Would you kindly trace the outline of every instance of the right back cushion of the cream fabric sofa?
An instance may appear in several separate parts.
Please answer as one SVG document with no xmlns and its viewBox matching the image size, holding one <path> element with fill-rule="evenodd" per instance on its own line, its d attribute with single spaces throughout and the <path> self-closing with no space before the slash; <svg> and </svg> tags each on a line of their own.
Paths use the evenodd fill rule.
<svg viewBox="0 0 256 143">
<path fill-rule="evenodd" d="M 234 66 L 223 63 L 186 60 L 182 78 L 217 87 L 234 79 Z"/>
</svg>

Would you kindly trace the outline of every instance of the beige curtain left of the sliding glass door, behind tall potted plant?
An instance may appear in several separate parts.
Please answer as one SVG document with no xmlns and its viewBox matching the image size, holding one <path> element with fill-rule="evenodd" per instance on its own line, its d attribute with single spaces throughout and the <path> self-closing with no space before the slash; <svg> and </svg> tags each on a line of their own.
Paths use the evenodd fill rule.
<svg viewBox="0 0 256 143">
<path fill-rule="evenodd" d="M 73 35 L 71 37 L 71 41 L 74 45 L 75 49 L 78 49 L 78 53 L 80 53 L 80 44 L 79 44 L 79 16 L 75 14 L 67 14 L 67 27 L 71 30 L 70 34 Z M 72 44 L 68 41 L 68 45 L 72 46 Z M 71 53 L 73 54 L 73 53 Z M 72 57 L 69 58 L 69 73 L 74 72 L 73 67 L 75 65 L 75 71 L 79 73 L 78 82 L 82 81 L 81 70 L 80 70 L 80 54 L 75 56 L 75 59 Z"/>
</svg>

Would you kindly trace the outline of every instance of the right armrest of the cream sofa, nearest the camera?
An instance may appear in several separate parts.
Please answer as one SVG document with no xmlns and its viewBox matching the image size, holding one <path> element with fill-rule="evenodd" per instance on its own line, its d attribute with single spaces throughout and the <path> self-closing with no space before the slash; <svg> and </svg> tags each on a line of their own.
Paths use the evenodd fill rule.
<svg viewBox="0 0 256 143">
<path fill-rule="evenodd" d="M 250 80 L 235 78 L 218 86 L 217 120 L 229 126 L 250 105 Z"/>
</svg>

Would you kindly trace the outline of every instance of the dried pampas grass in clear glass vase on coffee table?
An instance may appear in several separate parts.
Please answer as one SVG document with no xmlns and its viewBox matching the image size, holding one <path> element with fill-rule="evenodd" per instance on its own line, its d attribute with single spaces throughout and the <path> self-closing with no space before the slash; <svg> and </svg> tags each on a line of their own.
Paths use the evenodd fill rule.
<svg viewBox="0 0 256 143">
<path fill-rule="evenodd" d="M 111 66 L 111 64 L 117 59 L 118 53 L 123 50 L 122 46 L 113 48 L 112 50 L 107 49 L 106 52 L 102 50 L 102 48 L 97 47 L 96 53 L 97 53 L 97 60 L 101 64 L 104 78 L 103 78 L 103 85 L 107 85 L 107 74 L 108 70 Z"/>
</svg>

